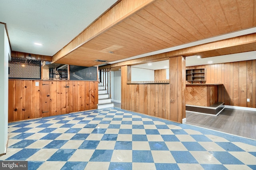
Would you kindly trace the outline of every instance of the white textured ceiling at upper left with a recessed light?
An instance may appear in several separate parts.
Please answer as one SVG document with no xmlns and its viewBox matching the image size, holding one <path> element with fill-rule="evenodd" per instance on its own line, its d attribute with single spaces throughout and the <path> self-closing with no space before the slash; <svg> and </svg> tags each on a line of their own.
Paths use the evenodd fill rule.
<svg viewBox="0 0 256 170">
<path fill-rule="evenodd" d="M 12 51 L 52 56 L 116 2 L 0 0 L 0 22 L 6 23 Z"/>
</svg>

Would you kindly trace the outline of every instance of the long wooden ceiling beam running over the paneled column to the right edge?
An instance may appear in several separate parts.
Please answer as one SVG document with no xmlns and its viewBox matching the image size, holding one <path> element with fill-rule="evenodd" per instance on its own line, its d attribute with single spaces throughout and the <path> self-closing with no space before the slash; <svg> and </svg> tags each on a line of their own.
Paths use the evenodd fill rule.
<svg viewBox="0 0 256 170">
<path fill-rule="evenodd" d="M 240 46 L 245 47 L 246 45 L 247 45 L 248 49 L 241 48 L 242 51 L 234 50 L 234 49 L 236 49 L 236 47 L 237 48 L 239 48 Z M 228 50 L 228 49 L 230 49 L 230 50 Z M 218 51 L 218 52 L 215 53 L 215 55 L 213 55 L 214 53 L 209 53 L 210 56 L 207 56 L 207 52 L 209 52 L 209 51 Z M 108 66 L 103 66 L 100 68 L 105 68 L 105 67 L 112 68 L 112 67 L 120 67 L 120 66 L 124 66 L 124 65 L 144 64 L 144 63 L 148 63 L 148 62 L 152 62 L 152 61 L 161 61 L 161 60 L 164 60 L 169 57 L 177 57 L 177 56 L 181 56 L 181 55 L 188 57 L 188 56 L 192 56 L 192 55 L 204 54 L 204 56 L 202 56 L 204 58 L 218 56 L 219 54 L 225 55 L 226 52 L 222 53 L 222 51 L 229 51 L 228 54 L 242 53 L 242 52 L 247 52 L 247 51 L 256 51 L 256 33 L 242 35 L 239 37 L 224 39 L 224 40 L 206 43 L 206 44 L 202 44 L 202 45 L 196 45 L 196 46 L 188 47 L 188 48 L 184 48 L 184 49 L 178 49 L 178 50 L 170 51 L 167 53 L 161 53 L 161 54 L 151 55 L 151 56 L 133 59 L 133 60 L 129 60 L 129 61 L 123 61 L 120 63 L 114 63 L 114 64 L 111 64 Z"/>
</svg>

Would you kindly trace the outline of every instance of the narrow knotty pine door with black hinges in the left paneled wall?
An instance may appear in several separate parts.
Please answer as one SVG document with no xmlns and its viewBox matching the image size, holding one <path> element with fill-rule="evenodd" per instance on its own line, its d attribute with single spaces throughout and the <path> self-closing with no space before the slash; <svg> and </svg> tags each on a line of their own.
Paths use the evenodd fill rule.
<svg viewBox="0 0 256 170">
<path fill-rule="evenodd" d="M 42 81 L 42 117 L 51 116 L 50 81 Z"/>
</svg>

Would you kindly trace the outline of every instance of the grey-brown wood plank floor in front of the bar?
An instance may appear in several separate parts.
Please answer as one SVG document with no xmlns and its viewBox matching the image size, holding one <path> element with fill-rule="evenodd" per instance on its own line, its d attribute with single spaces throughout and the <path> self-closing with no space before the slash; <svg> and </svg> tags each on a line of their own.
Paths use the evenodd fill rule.
<svg viewBox="0 0 256 170">
<path fill-rule="evenodd" d="M 256 140 L 256 111 L 225 108 L 217 116 L 186 111 L 186 124 Z"/>
</svg>

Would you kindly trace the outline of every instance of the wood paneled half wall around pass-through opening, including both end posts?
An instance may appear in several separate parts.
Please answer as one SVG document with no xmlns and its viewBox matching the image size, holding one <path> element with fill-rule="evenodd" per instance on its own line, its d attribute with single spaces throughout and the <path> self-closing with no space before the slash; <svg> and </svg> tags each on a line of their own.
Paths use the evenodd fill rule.
<svg viewBox="0 0 256 170">
<path fill-rule="evenodd" d="M 170 84 L 127 84 L 130 66 L 122 66 L 121 108 L 181 123 L 185 117 L 185 62 L 181 56 L 172 57 L 170 64 Z"/>
</svg>

